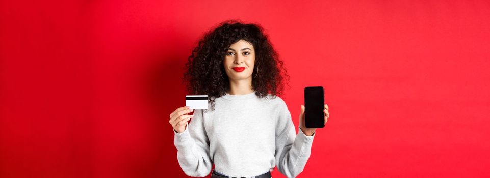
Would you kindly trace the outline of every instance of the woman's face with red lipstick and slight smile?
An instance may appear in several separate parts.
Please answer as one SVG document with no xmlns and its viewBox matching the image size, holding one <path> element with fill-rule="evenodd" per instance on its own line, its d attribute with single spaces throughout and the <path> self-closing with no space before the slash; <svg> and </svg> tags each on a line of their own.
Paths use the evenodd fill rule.
<svg viewBox="0 0 490 178">
<path fill-rule="evenodd" d="M 231 80 L 251 78 L 254 64 L 255 50 L 251 43 L 240 40 L 226 49 L 223 65 Z"/>
</svg>

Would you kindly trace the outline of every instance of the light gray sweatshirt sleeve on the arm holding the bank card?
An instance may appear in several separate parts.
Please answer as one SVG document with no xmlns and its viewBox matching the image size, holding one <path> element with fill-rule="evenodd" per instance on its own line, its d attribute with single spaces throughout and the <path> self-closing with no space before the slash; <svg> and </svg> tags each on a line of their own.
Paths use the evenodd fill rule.
<svg viewBox="0 0 490 178">
<path fill-rule="evenodd" d="M 204 177 L 211 172 L 209 139 L 204 129 L 202 110 L 196 110 L 194 117 L 182 133 L 175 133 L 178 164 L 189 176 Z"/>
</svg>

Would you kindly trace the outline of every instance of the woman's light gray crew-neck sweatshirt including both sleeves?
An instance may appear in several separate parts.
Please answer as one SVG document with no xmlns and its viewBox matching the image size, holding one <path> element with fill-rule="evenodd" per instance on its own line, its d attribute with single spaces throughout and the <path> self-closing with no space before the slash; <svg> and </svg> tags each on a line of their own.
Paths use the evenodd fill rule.
<svg viewBox="0 0 490 178">
<path fill-rule="evenodd" d="M 184 132 L 174 130 L 174 145 L 189 176 L 207 176 L 214 163 L 227 176 L 251 177 L 277 165 L 283 175 L 295 177 L 310 158 L 315 135 L 298 132 L 281 98 L 226 94 L 216 98 L 214 111 L 195 110 Z"/>
</svg>

